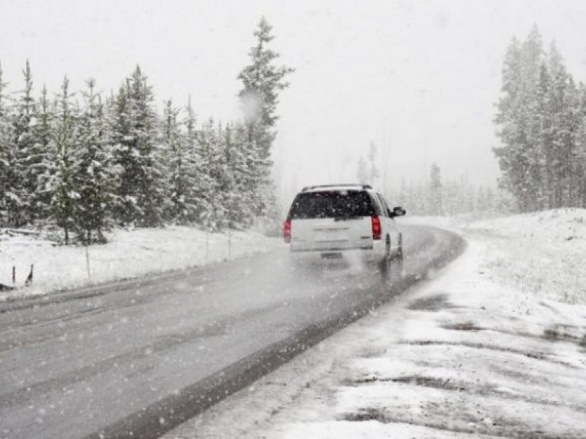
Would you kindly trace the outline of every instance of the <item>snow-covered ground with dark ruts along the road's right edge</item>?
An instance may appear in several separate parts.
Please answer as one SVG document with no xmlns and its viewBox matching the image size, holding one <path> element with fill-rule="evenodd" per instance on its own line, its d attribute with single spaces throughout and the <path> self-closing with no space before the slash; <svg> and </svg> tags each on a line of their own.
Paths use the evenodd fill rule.
<svg viewBox="0 0 586 439">
<path fill-rule="evenodd" d="M 432 219 L 454 264 L 167 437 L 585 438 L 585 218 Z"/>
</svg>

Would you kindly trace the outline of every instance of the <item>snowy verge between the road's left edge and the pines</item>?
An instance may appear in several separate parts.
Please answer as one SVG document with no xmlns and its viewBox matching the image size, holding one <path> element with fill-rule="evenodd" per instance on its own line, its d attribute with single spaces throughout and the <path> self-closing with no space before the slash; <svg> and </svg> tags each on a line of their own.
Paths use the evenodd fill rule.
<svg viewBox="0 0 586 439">
<path fill-rule="evenodd" d="M 39 295 L 99 282 L 137 277 L 230 260 L 283 245 L 255 231 L 206 233 L 190 227 L 117 229 L 110 242 L 95 246 L 58 246 L 34 235 L 0 231 L 0 300 Z M 32 286 L 22 288 L 34 264 Z"/>
</svg>

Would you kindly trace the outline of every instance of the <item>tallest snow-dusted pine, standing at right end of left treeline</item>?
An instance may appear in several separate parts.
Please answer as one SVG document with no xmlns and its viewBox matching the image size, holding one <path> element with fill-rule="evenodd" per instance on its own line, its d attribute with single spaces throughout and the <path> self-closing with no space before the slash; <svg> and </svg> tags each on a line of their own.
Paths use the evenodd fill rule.
<svg viewBox="0 0 586 439">
<path fill-rule="evenodd" d="M 243 84 L 239 97 L 247 127 L 247 142 L 254 147 L 256 153 L 252 161 L 258 161 L 260 165 L 252 171 L 256 179 L 254 203 L 257 213 L 265 215 L 270 209 L 270 204 L 274 202 L 274 188 L 270 182 L 270 157 L 272 143 L 276 137 L 274 127 L 279 119 L 276 115 L 276 105 L 279 91 L 289 86 L 284 78 L 293 72 L 293 69 L 275 65 L 274 61 L 279 54 L 267 48 L 274 37 L 272 26 L 264 17 L 254 31 L 254 37 L 256 45 L 249 52 L 250 64 L 238 75 Z"/>
</svg>

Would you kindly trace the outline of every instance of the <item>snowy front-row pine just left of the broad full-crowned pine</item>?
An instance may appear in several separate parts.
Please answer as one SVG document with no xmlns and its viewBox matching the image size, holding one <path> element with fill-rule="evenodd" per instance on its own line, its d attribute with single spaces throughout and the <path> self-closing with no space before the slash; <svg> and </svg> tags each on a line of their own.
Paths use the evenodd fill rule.
<svg viewBox="0 0 586 439">
<path fill-rule="evenodd" d="M 78 239 L 89 245 L 105 242 L 103 231 L 112 222 L 117 169 L 108 142 L 103 103 L 96 92 L 96 81 L 89 79 L 86 84 L 88 89 L 83 93 L 84 106 L 76 130 L 73 186 L 79 193 L 74 206 L 75 230 Z"/>
</svg>

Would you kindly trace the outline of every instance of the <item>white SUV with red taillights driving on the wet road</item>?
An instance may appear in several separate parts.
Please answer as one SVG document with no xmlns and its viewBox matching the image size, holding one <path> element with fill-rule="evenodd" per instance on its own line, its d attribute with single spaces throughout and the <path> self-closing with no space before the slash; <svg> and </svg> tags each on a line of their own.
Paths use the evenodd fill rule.
<svg viewBox="0 0 586 439">
<path fill-rule="evenodd" d="M 283 229 L 291 251 L 323 257 L 360 251 L 367 259 L 386 262 L 403 256 L 401 232 L 383 196 L 365 184 L 308 186 L 293 200 Z"/>
</svg>

